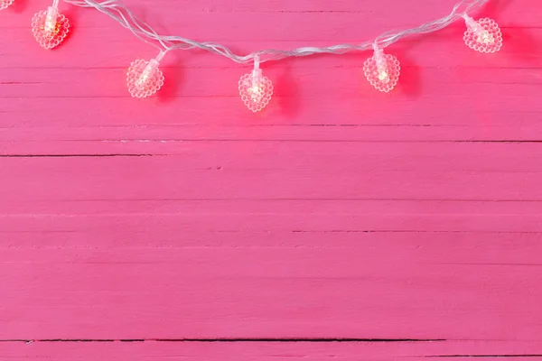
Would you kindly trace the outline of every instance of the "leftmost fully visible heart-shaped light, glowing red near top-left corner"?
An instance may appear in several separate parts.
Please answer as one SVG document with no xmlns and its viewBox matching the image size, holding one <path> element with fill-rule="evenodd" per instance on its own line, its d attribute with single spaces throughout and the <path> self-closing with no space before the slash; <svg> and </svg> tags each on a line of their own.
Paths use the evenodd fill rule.
<svg viewBox="0 0 542 361">
<path fill-rule="evenodd" d="M 59 0 L 53 0 L 46 11 L 33 15 L 32 32 L 44 49 L 52 49 L 64 40 L 70 32 L 70 22 L 59 14 Z"/>
</svg>

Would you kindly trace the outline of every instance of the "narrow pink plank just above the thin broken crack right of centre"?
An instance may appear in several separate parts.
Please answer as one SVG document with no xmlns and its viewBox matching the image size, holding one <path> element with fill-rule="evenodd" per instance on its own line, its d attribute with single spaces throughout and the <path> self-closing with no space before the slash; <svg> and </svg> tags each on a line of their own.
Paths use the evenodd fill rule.
<svg viewBox="0 0 542 361">
<path fill-rule="evenodd" d="M 79 203 L 84 206 L 84 202 Z M 79 207 L 81 207 L 79 206 Z M 286 204 L 285 204 L 286 206 Z M 221 218 L 217 222 L 216 218 Z M 348 219 L 345 219 L 348 218 Z M 326 221 L 327 219 L 327 221 Z M 297 216 L 297 213 L 280 216 L 267 215 L 107 215 L 107 216 L 79 216 L 49 214 L 36 215 L 9 215 L 0 217 L 0 227 L 3 232 L 46 232 L 51 230 L 70 229 L 73 231 L 86 231 L 86 238 L 92 236 L 92 229 L 104 232 L 117 225 L 126 227 L 126 231 L 152 233 L 161 231 L 166 234 L 182 232 L 250 232 L 278 231 L 278 232 L 540 232 L 540 215 L 519 216 L 472 216 L 463 215 L 437 215 L 427 214 L 397 214 L 397 215 L 306 215 Z M 88 227 L 86 225 L 92 225 Z M 207 228 L 206 228 L 207 227 Z M 147 229 L 148 228 L 148 229 Z M 233 235 L 232 235 L 233 236 Z M 393 236 L 393 235 L 389 235 Z M 89 241 L 90 242 L 90 241 Z"/>
</svg>

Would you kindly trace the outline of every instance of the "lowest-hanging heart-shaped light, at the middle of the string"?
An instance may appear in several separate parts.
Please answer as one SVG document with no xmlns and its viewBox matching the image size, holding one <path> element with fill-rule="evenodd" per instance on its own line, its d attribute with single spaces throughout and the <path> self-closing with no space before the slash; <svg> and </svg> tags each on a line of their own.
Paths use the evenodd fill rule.
<svg viewBox="0 0 542 361">
<path fill-rule="evenodd" d="M 262 75 L 257 56 L 254 58 L 254 70 L 239 79 L 238 88 L 245 106 L 253 112 L 259 112 L 271 100 L 273 83 Z"/>
</svg>

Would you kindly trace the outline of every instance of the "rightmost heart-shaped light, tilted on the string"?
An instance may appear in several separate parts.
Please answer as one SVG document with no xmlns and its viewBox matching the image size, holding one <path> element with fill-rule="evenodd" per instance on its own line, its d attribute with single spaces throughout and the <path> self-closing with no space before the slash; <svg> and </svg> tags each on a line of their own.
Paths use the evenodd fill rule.
<svg viewBox="0 0 542 361">
<path fill-rule="evenodd" d="M 502 34 L 495 21 L 489 18 L 483 18 L 475 21 L 469 15 L 463 15 L 467 24 L 467 30 L 463 35 L 463 40 L 469 48 L 480 52 L 500 51 L 502 47 Z"/>
</svg>

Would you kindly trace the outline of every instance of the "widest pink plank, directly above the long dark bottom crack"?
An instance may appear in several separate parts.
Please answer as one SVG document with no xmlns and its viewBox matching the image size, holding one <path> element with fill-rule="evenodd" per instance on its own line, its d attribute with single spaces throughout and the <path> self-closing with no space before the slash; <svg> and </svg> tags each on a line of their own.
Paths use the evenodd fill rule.
<svg viewBox="0 0 542 361">
<path fill-rule="evenodd" d="M 513 238 L 3 248 L 0 338 L 535 340 L 539 237 Z"/>
</svg>

